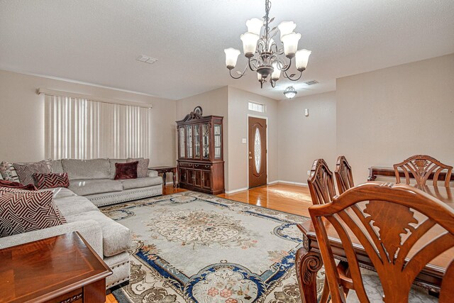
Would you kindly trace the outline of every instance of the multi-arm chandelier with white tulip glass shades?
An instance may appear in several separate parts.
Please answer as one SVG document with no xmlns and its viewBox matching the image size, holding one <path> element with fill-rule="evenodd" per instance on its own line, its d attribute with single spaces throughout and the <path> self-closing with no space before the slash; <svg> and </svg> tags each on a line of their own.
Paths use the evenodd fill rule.
<svg viewBox="0 0 454 303">
<path fill-rule="evenodd" d="M 270 19 L 268 16 L 270 7 L 270 0 L 265 0 L 265 16 L 263 19 L 252 18 L 248 20 L 246 22 L 248 31 L 240 36 L 243 41 L 244 55 L 248 58 L 248 64 L 243 72 L 238 70 L 236 73 L 232 73 L 240 51 L 235 48 L 226 48 L 224 50 L 226 53 L 226 66 L 233 79 L 243 77 L 249 67 L 253 72 L 257 72 L 260 87 L 263 87 L 263 83 L 267 81 L 270 82 L 272 87 L 275 87 L 281 72 L 283 72 L 284 78 L 297 81 L 306 70 L 311 51 L 306 49 L 297 50 L 298 41 L 301 38 L 301 34 L 294 33 L 297 24 L 293 21 L 284 21 L 270 30 L 270 23 L 275 20 L 275 18 Z M 280 45 L 282 46 L 278 46 L 273 40 L 278 30 L 280 33 Z M 261 36 L 260 33 L 262 33 Z M 290 75 L 287 73 L 292 66 L 292 60 L 296 61 L 295 66 L 299 75 L 297 73 L 291 73 Z"/>
</svg>

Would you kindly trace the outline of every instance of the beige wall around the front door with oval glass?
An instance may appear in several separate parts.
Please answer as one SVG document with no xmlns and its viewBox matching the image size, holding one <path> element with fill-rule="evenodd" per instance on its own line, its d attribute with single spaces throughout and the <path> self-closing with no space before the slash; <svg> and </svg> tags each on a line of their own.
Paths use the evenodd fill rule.
<svg viewBox="0 0 454 303">
<path fill-rule="evenodd" d="M 265 104 L 266 112 L 248 110 L 248 102 L 255 101 Z M 268 182 L 278 179 L 278 150 L 277 150 L 277 103 L 267 97 L 245 92 L 241 89 L 228 87 L 228 189 L 244 189 L 248 187 L 248 114 L 267 117 L 268 136 Z"/>
</svg>

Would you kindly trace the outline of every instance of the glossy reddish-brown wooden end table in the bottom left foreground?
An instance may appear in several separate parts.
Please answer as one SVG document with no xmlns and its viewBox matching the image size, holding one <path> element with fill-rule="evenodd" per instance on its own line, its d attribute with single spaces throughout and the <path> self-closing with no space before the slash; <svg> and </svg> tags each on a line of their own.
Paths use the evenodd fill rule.
<svg viewBox="0 0 454 303">
<path fill-rule="evenodd" d="M 105 302 L 112 271 L 77 232 L 0 250 L 1 302 Z"/>
</svg>

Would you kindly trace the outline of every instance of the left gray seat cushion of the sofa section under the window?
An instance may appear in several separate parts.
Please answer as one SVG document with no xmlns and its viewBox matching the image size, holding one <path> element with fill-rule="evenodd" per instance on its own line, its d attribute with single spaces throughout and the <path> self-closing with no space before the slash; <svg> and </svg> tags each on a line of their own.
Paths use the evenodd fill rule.
<svg viewBox="0 0 454 303">
<path fill-rule="evenodd" d="M 123 185 L 119 181 L 110 179 L 71 180 L 68 189 L 79 196 L 87 196 L 104 192 L 121 192 Z"/>
</svg>

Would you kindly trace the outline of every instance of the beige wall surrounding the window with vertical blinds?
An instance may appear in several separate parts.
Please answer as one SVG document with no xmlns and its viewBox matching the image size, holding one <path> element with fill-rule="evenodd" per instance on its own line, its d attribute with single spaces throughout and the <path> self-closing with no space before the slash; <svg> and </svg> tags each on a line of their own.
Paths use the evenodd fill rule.
<svg viewBox="0 0 454 303">
<path fill-rule="evenodd" d="M 37 89 L 153 104 L 150 165 L 175 164 L 176 101 L 0 70 L 0 161 L 44 158 L 44 97 Z"/>
</svg>

